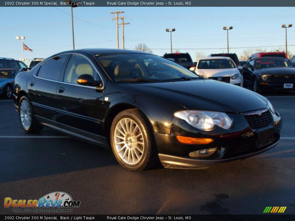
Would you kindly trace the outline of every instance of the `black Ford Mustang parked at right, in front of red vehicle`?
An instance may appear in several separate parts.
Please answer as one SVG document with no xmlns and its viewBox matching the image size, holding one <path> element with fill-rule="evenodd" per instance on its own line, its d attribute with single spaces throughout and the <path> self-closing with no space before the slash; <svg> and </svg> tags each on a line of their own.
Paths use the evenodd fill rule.
<svg viewBox="0 0 295 221">
<path fill-rule="evenodd" d="M 286 58 L 254 58 L 243 67 L 244 87 L 257 93 L 263 90 L 294 90 L 295 68 Z"/>
</svg>

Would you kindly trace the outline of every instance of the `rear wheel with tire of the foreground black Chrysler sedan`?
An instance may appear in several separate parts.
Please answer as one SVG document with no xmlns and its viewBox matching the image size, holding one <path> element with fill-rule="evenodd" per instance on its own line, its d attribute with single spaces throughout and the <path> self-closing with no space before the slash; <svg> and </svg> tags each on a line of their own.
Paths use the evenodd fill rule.
<svg viewBox="0 0 295 221">
<path fill-rule="evenodd" d="M 18 113 L 21 126 L 27 133 L 37 133 L 43 129 L 43 126 L 37 122 L 32 105 L 26 96 L 22 96 L 19 100 Z"/>
</svg>

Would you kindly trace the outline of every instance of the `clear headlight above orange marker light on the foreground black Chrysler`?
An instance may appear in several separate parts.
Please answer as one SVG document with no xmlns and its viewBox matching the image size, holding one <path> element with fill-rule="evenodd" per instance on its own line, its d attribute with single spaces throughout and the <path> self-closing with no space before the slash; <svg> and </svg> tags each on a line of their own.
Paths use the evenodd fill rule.
<svg viewBox="0 0 295 221">
<path fill-rule="evenodd" d="M 174 116 L 200 130 L 211 130 L 214 125 L 229 129 L 233 121 L 226 113 L 215 111 L 178 111 Z"/>
</svg>

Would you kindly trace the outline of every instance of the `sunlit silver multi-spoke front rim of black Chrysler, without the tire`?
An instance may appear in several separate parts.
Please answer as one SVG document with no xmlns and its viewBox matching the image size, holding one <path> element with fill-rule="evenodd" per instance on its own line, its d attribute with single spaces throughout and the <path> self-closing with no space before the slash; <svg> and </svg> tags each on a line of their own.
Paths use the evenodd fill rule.
<svg viewBox="0 0 295 221">
<path fill-rule="evenodd" d="M 127 164 L 137 164 L 144 153 L 144 137 L 134 120 L 121 119 L 115 128 L 114 143 L 119 157 Z"/>
</svg>

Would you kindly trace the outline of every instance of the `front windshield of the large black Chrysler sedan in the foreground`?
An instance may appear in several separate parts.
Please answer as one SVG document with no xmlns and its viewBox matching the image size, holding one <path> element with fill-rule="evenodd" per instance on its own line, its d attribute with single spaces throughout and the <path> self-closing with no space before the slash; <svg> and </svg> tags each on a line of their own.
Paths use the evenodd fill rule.
<svg viewBox="0 0 295 221">
<path fill-rule="evenodd" d="M 116 82 L 169 81 L 199 78 L 195 73 L 165 58 L 150 54 L 95 56 Z"/>
</svg>

